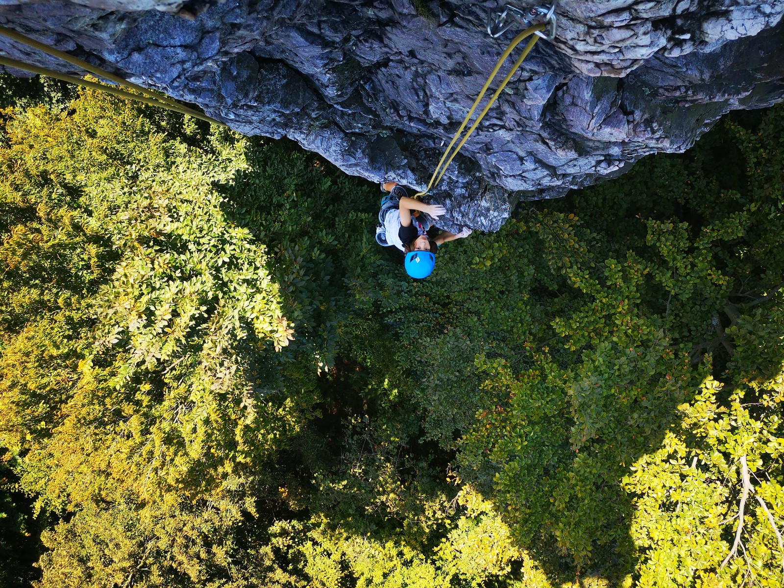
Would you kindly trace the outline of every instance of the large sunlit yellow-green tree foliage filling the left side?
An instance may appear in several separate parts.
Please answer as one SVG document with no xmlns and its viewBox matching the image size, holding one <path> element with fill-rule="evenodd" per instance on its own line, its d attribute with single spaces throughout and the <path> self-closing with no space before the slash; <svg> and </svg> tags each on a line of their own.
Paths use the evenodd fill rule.
<svg viewBox="0 0 784 588">
<path fill-rule="evenodd" d="M 208 529 L 252 512 L 248 468 L 315 397 L 268 399 L 278 383 L 258 379 L 293 331 L 265 247 L 218 189 L 247 167 L 243 143 L 186 123 L 188 147 L 92 92 L 4 116 L 0 435 L 38 507 L 76 513 L 44 536 L 43 582 L 122 584 L 167 553 L 150 582 L 198 583 L 189 558 L 206 542 L 230 561 Z"/>
</svg>

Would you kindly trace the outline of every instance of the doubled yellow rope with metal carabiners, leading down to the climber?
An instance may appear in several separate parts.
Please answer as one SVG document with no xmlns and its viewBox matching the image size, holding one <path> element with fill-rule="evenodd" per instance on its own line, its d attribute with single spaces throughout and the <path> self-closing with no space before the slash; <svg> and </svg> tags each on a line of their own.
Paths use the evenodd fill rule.
<svg viewBox="0 0 784 588">
<path fill-rule="evenodd" d="M 532 24 L 533 20 L 543 17 L 545 22 L 539 24 Z M 509 22 L 507 22 L 509 19 Z M 503 8 L 499 9 L 495 13 L 492 13 L 488 18 L 488 34 L 492 37 L 499 37 L 500 35 L 504 34 L 506 31 L 510 29 L 515 23 L 522 24 L 523 26 L 527 27 L 523 32 L 517 35 L 512 42 L 510 42 L 509 46 L 506 47 L 499 60 L 495 63 L 495 67 L 490 72 L 488 76 L 487 82 L 485 85 L 482 86 L 481 92 L 479 96 L 477 96 L 477 100 L 474 100 L 474 105 L 471 106 L 470 111 L 466 114 L 466 118 L 463 118 L 463 123 L 461 123 L 459 129 L 455 133 L 455 136 L 452 138 L 452 142 L 449 143 L 446 151 L 441 156 L 441 161 L 438 162 L 435 171 L 433 172 L 433 176 L 430 177 L 430 182 L 427 184 L 427 187 L 424 191 L 418 192 L 414 198 L 419 198 L 420 196 L 424 196 L 430 190 L 434 189 L 441 181 L 441 178 L 444 176 L 444 172 L 448 168 L 449 164 L 452 163 L 452 159 L 460 151 L 460 148 L 466 143 L 468 138 L 471 136 L 471 133 L 474 132 L 474 129 L 477 128 L 479 123 L 482 121 L 482 118 L 485 118 L 485 114 L 490 110 L 493 103 L 495 103 L 495 99 L 498 98 L 500 93 L 503 92 L 503 89 L 506 88 L 506 84 L 510 81 L 512 76 L 517 72 L 517 69 L 523 63 L 523 60 L 528 56 L 528 53 L 531 52 L 536 42 L 539 38 L 546 39 L 548 41 L 552 41 L 555 38 L 555 27 L 556 27 L 556 16 L 555 16 L 555 3 L 550 5 L 549 8 L 544 8 L 543 6 L 533 6 L 531 8 L 523 8 L 516 2 L 507 2 Z M 546 33 L 544 31 L 547 31 Z M 506 77 L 503 78 L 503 82 L 499 85 L 498 89 L 495 90 L 495 93 L 490 97 L 488 103 L 485 104 L 485 108 L 482 109 L 481 113 L 474 121 L 474 124 L 470 126 L 470 129 L 466 131 L 466 135 L 463 136 L 463 139 L 460 140 L 455 150 L 452 151 L 452 147 L 455 146 L 457 140 L 459 139 L 463 129 L 466 128 L 470 118 L 474 115 L 474 111 L 477 110 L 479 103 L 481 102 L 482 98 L 485 96 L 485 93 L 488 91 L 490 84 L 495 79 L 495 75 L 498 74 L 498 71 L 501 69 L 501 66 L 506 61 L 506 58 L 510 56 L 510 53 L 514 51 L 514 48 L 519 45 L 523 39 L 530 37 L 533 35 L 533 38 L 528 41 L 523 49 L 522 53 L 519 57 L 517 57 L 517 61 L 514 62 L 512 69 Z"/>
</svg>

